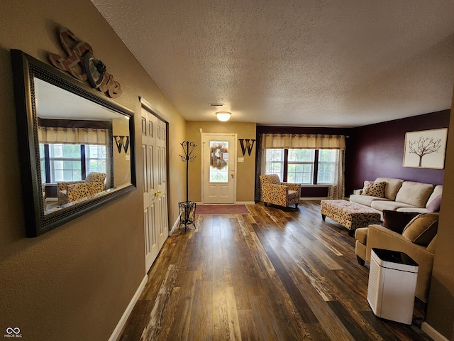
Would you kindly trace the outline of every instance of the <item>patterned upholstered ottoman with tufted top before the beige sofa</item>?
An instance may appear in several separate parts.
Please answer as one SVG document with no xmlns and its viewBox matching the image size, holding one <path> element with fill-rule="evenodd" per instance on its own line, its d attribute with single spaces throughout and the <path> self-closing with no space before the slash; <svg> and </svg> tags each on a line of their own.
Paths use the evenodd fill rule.
<svg viewBox="0 0 454 341">
<path fill-rule="evenodd" d="M 321 200 L 321 219 L 328 217 L 347 228 L 353 237 L 355 229 L 380 223 L 380 213 L 371 208 L 357 205 L 347 200 Z"/>
</svg>

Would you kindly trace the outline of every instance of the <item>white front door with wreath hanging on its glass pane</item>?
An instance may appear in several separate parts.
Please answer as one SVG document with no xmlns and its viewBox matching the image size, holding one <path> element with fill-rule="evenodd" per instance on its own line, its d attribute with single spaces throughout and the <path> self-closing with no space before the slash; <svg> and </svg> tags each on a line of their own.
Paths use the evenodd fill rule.
<svg viewBox="0 0 454 341">
<path fill-rule="evenodd" d="M 204 204 L 233 204 L 236 198 L 236 134 L 202 134 Z"/>
</svg>

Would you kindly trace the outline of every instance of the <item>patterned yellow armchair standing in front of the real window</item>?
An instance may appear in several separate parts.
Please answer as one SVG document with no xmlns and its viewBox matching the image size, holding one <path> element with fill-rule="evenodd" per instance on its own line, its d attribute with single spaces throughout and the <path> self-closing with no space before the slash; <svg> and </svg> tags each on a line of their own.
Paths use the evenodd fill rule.
<svg viewBox="0 0 454 341">
<path fill-rule="evenodd" d="M 281 183 L 279 175 L 260 175 L 262 186 L 262 200 L 265 206 L 268 202 L 274 205 L 287 207 L 295 205 L 298 207 L 301 196 L 301 185 L 299 183 Z"/>
</svg>

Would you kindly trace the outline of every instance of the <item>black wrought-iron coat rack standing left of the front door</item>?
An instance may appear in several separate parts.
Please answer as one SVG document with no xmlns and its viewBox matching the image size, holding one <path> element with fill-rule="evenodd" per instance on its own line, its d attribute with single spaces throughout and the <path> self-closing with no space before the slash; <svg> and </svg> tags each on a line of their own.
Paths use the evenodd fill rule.
<svg viewBox="0 0 454 341">
<path fill-rule="evenodd" d="M 196 148 L 196 144 L 194 142 L 183 141 L 181 143 L 184 151 L 184 155 L 180 155 L 183 162 L 186 162 L 186 201 L 179 202 L 179 229 L 182 229 L 184 226 L 184 232 L 191 225 L 196 228 L 195 224 L 195 215 L 196 215 L 196 203 L 194 201 L 189 201 L 189 183 L 188 183 L 188 175 L 189 175 L 189 162 L 194 161 L 195 156 L 192 156 L 192 152 L 194 148 Z"/>
</svg>

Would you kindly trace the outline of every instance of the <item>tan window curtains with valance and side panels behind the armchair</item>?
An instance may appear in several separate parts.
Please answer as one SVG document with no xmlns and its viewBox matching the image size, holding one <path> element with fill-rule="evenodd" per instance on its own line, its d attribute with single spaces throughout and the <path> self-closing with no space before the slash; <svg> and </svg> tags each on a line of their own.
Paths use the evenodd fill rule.
<svg viewBox="0 0 454 341">
<path fill-rule="evenodd" d="M 345 136 L 323 134 L 262 134 L 259 136 L 257 176 L 265 174 L 266 149 L 338 149 L 335 183 L 328 186 L 329 199 L 343 199 L 345 192 Z M 255 200 L 260 200 L 260 180 L 255 186 Z"/>
</svg>

